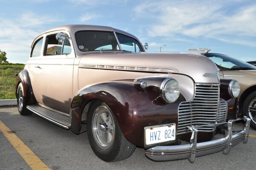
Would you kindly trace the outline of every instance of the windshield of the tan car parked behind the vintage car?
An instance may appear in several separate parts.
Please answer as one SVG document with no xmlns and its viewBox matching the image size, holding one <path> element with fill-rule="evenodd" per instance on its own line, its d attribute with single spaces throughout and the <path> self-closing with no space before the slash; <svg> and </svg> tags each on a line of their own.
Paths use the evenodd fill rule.
<svg viewBox="0 0 256 170">
<path fill-rule="evenodd" d="M 256 67 L 224 54 L 204 54 L 218 66 L 220 70 L 256 70 Z"/>
</svg>

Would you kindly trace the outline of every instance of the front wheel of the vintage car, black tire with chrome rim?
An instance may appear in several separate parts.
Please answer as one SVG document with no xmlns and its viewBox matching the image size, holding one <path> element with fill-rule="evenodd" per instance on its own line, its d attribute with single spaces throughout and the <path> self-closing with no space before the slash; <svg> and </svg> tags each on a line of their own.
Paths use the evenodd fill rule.
<svg viewBox="0 0 256 170">
<path fill-rule="evenodd" d="M 93 152 L 103 161 L 126 159 L 136 147 L 123 136 L 111 109 L 99 100 L 92 103 L 87 113 L 87 134 Z"/>
</svg>

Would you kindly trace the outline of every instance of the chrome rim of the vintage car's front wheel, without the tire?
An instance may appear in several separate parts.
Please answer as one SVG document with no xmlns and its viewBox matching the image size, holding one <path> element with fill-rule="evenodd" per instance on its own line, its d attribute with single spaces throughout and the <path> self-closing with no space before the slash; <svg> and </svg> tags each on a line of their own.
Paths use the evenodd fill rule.
<svg viewBox="0 0 256 170">
<path fill-rule="evenodd" d="M 115 125 L 111 111 L 99 106 L 93 113 L 93 137 L 102 149 L 108 149 L 114 141 Z"/>
</svg>

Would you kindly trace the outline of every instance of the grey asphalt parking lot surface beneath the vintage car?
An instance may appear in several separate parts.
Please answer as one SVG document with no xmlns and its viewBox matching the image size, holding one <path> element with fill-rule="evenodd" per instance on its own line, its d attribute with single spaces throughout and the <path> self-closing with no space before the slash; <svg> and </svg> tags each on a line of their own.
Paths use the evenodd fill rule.
<svg viewBox="0 0 256 170">
<path fill-rule="evenodd" d="M 143 148 L 136 148 L 128 159 L 108 163 L 95 156 L 86 132 L 76 135 L 35 114 L 21 116 L 17 108 L 0 108 L 0 121 L 52 170 L 253 170 L 256 167 L 256 130 L 253 129 L 248 143 L 232 147 L 229 155 L 219 152 L 198 157 L 194 164 L 188 160 L 151 161 Z M 1 130 L 0 144 L 0 170 L 31 169 Z"/>
</svg>

